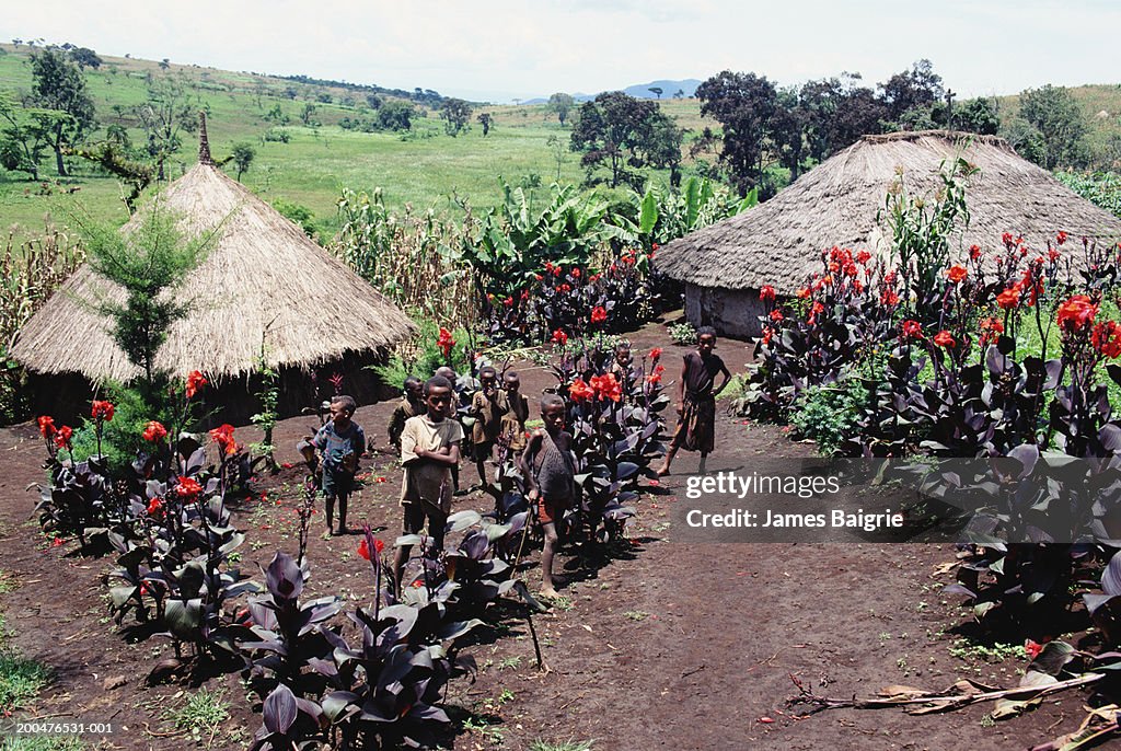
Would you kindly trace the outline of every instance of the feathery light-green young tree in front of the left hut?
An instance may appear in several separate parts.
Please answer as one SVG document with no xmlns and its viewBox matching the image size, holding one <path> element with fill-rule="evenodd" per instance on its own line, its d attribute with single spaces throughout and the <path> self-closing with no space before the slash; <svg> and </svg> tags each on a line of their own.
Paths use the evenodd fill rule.
<svg viewBox="0 0 1121 751">
<path fill-rule="evenodd" d="M 157 203 L 140 225 L 128 234 L 108 225 L 83 223 L 86 252 L 94 271 L 124 288 L 126 302 L 94 305 L 112 321 L 113 341 L 141 368 L 148 397 L 156 397 L 164 380 L 156 353 L 167 341 L 172 324 L 188 305 L 175 298 L 186 275 L 204 258 L 212 235 L 186 239 L 178 216 Z"/>
</svg>

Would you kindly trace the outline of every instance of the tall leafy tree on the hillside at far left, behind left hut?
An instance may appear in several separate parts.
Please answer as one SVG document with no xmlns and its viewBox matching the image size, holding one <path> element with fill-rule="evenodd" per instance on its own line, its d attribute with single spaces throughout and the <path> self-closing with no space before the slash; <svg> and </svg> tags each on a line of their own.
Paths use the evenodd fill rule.
<svg viewBox="0 0 1121 751">
<path fill-rule="evenodd" d="M 31 99 L 41 109 L 66 115 L 56 119 L 48 135 L 58 175 L 65 177 L 63 151 L 81 142 L 93 127 L 93 100 L 85 90 L 85 76 L 62 50 L 44 49 L 31 57 Z"/>
</svg>

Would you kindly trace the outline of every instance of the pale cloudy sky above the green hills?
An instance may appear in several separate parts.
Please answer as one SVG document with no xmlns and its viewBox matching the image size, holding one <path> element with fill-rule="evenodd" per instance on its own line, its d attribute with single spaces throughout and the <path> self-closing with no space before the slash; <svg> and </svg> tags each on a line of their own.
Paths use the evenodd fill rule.
<svg viewBox="0 0 1121 751">
<path fill-rule="evenodd" d="M 928 58 L 961 96 L 1121 80 L 1115 0 L 3 0 L 0 39 L 510 102 Z"/>
</svg>

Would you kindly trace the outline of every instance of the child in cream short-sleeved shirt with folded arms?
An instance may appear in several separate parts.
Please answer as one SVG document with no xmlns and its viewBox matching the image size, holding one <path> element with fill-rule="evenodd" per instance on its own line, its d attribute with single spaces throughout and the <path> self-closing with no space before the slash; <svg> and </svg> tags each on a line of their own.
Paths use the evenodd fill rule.
<svg viewBox="0 0 1121 751">
<path fill-rule="evenodd" d="M 407 419 L 401 433 L 402 529 L 406 535 L 419 535 L 427 519 L 428 535 L 438 551 L 444 547 L 444 526 L 452 510 L 452 467 L 460 462 L 463 428 L 447 417 L 454 396 L 446 378 L 428 379 L 424 397 L 427 411 Z M 410 545 L 402 545 L 393 556 L 393 582 L 398 590 L 410 550 Z"/>
</svg>

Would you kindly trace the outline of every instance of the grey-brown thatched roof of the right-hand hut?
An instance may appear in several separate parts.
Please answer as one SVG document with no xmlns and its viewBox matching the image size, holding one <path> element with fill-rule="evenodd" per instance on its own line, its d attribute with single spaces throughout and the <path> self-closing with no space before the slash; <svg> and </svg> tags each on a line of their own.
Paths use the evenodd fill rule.
<svg viewBox="0 0 1121 751">
<path fill-rule="evenodd" d="M 701 287 L 771 285 L 790 295 L 821 270 L 821 252 L 833 245 L 888 252 L 890 229 L 876 217 L 897 170 L 909 195 L 928 195 L 942 185 L 942 163 L 958 155 L 981 171 L 970 178 L 970 224 L 958 229 L 955 247 L 994 248 L 1004 232 L 1022 234 L 1036 249 L 1060 230 L 1072 238 L 1121 237 L 1121 221 L 1017 156 L 1003 139 L 919 131 L 863 137 L 762 205 L 667 243 L 657 267 Z"/>
</svg>

